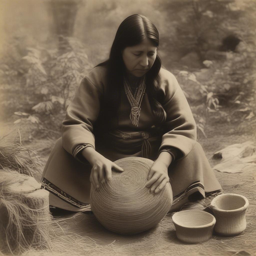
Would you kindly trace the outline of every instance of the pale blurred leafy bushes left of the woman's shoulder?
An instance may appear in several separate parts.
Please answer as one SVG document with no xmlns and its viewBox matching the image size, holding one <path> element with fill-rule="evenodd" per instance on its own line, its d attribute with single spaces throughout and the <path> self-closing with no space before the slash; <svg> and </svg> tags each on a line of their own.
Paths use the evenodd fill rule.
<svg viewBox="0 0 256 256">
<path fill-rule="evenodd" d="M 19 65 L 12 66 L 12 69 L 12 62 L 0 66 L 1 76 L 6 82 L 0 86 L 3 92 L 2 117 L 12 113 L 18 115 L 14 124 L 30 123 L 31 134 L 38 130 L 47 135 L 44 128 L 46 123 L 53 132 L 59 128 L 62 120 L 57 116 L 64 118 L 65 110 L 82 78 L 93 68 L 84 45 L 76 38 L 66 39 L 70 48 L 65 54 L 59 55 L 57 49 L 27 47 L 26 55 L 19 56 Z M 23 67 L 22 72 L 19 71 L 20 66 Z M 12 79 L 9 78 L 10 73 Z"/>
</svg>

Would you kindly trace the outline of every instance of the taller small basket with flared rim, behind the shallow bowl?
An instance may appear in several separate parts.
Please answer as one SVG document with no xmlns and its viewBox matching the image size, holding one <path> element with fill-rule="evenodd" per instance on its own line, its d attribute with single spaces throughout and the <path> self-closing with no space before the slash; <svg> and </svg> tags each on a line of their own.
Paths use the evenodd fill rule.
<svg viewBox="0 0 256 256">
<path fill-rule="evenodd" d="M 246 229 L 248 199 L 238 194 L 218 195 L 211 201 L 210 208 L 216 218 L 214 230 L 224 236 L 235 236 Z"/>
</svg>

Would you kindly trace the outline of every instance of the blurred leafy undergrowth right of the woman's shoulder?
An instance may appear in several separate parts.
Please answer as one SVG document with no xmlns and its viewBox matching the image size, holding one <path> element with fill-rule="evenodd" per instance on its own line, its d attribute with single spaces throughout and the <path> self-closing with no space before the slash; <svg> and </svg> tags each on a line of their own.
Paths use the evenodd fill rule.
<svg viewBox="0 0 256 256">
<path fill-rule="evenodd" d="M 204 61 L 207 68 L 194 72 L 175 70 L 197 128 L 204 136 L 205 126 L 211 123 L 254 122 L 255 56 L 252 45 L 240 43 L 238 52 L 226 53 L 226 60 Z"/>
</svg>

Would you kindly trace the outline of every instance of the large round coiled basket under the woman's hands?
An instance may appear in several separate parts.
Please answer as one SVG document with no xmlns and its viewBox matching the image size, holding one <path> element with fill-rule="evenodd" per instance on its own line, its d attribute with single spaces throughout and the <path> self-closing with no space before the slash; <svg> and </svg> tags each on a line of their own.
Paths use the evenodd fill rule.
<svg viewBox="0 0 256 256">
<path fill-rule="evenodd" d="M 112 179 L 97 191 L 91 186 L 91 209 L 107 229 L 135 234 L 156 226 L 169 211 L 172 201 L 170 183 L 158 193 L 145 187 L 153 161 L 143 157 L 125 157 L 114 162 L 124 172 L 112 170 Z"/>
</svg>

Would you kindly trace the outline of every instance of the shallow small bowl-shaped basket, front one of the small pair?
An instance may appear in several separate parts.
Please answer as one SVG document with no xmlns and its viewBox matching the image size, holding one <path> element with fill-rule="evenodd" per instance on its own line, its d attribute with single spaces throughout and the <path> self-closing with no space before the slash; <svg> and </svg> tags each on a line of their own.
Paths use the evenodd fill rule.
<svg viewBox="0 0 256 256">
<path fill-rule="evenodd" d="M 183 210 L 173 216 L 177 238 L 185 243 L 201 243 L 212 237 L 216 219 L 202 210 Z"/>
</svg>

